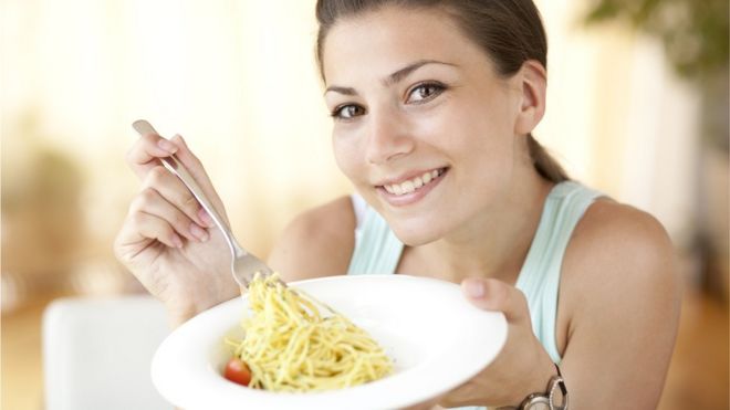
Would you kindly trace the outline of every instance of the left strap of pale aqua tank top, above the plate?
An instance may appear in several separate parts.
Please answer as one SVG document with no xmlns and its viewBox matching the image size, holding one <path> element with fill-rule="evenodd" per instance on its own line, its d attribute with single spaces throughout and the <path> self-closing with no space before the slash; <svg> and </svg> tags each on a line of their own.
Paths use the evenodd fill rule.
<svg viewBox="0 0 730 410">
<path fill-rule="evenodd" d="M 403 242 L 396 238 L 385 219 L 365 204 L 362 197 L 353 195 L 352 201 L 358 218 L 355 250 L 347 274 L 395 273 L 403 253 Z"/>
</svg>

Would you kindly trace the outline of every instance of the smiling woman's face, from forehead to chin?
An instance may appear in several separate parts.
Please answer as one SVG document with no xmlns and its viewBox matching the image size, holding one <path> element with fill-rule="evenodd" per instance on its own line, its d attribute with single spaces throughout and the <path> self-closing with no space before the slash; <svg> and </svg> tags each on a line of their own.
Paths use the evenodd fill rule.
<svg viewBox="0 0 730 410">
<path fill-rule="evenodd" d="M 447 14 L 341 20 L 323 70 L 336 161 L 406 244 L 468 230 L 507 196 L 521 91 Z"/>
</svg>

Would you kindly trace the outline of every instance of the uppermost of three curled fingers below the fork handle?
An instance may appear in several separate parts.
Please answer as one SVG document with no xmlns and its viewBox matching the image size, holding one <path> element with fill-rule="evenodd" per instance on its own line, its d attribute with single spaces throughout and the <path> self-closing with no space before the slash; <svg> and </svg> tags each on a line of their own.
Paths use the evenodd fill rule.
<svg viewBox="0 0 730 410">
<path fill-rule="evenodd" d="M 212 225 L 209 220 L 205 219 L 207 213 L 190 190 L 165 167 L 157 166 L 147 172 L 147 177 L 143 182 L 143 191 L 147 188 L 158 192 L 200 228 Z"/>
</svg>

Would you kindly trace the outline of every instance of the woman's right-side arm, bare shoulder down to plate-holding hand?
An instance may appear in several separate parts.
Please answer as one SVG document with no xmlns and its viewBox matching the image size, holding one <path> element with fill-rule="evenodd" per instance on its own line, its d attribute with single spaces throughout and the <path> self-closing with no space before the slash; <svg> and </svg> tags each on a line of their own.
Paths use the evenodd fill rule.
<svg viewBox="0 0 730 410">
<path fill-rule="evenodd" d="M 465 295 L 503 312 L 508 339 L 474 378 L 437 401 L 518 406 L 544 392 L 555 368 L 532 332 L 522 292 L 469 277 Z M 572 409 L 653 409 L 661 395 L 679 315 L 679 278 L 661 225 L 646 213 L 598 201 L 581 220 L 563 260 L 556 343 Z M 559 400 L 560 402 L 561 400 Z"/>
</svg>

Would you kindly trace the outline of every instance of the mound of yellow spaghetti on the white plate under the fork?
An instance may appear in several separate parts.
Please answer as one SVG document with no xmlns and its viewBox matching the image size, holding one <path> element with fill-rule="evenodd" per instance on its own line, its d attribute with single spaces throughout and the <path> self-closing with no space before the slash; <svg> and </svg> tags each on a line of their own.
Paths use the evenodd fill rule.
<svg viewBox="0 0 730 410">
<path fill-rule="evenodd" d="M 250 368 L 249 387 L 322 391 L 392 372 L 390 359 L 365 330 L 301 291 L 283 286 L 278 274 L 257 275 L 248 292 L 252 315 L 242 322 L 246 336 L 226 341 Z"/>
</svg>

